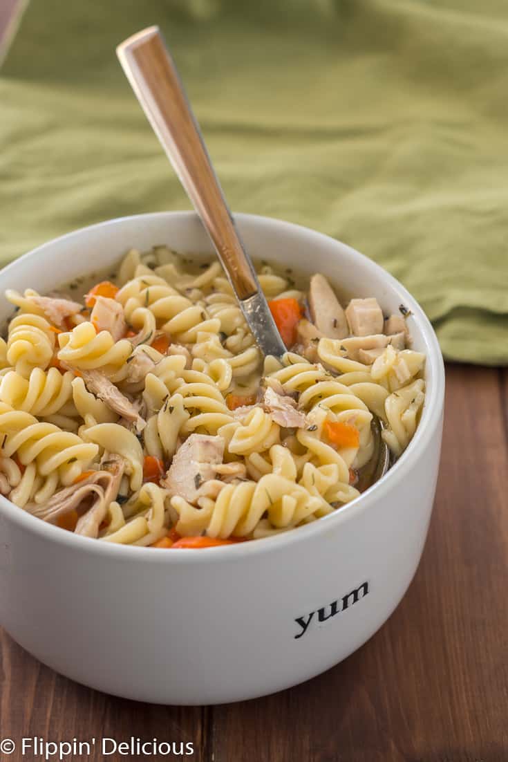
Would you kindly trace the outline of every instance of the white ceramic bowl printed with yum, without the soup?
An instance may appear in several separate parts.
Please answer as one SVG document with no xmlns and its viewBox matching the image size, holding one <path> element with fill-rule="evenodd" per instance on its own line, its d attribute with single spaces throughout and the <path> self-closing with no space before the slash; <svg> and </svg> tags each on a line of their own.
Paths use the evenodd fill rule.
<svg viewBox="0 0 508 762">
<path fill-rule="evenodd" d="M 433 506 L 444 370 L 420 306 L 349 246 L 276 219 L 235 216 L 254 258 L 321 271 L 386 312 L 411 309 L 427 354 L 414 439 L 350 504 L 296 530 L 238 546 L 154 551 L 74 536 L 0 497 L 0 617 L 28 652 L 107 693 L 171 704 L 254 698 L 327 670 L 398 605 L 416 571 Z M 0 292 L 44 293 L 119 261 L 131 247 L 212 251 L 193 213 L 113 219 L 72 232 L 0 271 Z M 11 313 L 3 299 L 0 318 Z M 321 621 L 320 621 L 321 620 Z"/>
</svg>

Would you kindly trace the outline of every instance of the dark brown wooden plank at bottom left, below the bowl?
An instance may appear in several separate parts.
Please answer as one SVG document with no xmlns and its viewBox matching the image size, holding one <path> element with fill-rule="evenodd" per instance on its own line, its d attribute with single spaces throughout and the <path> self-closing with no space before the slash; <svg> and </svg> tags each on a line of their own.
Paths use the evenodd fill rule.
<svg viewBox="0 0 508 762">
<path fill-rule="evenodd" d="M 51 741 L 92 737 L 128 741 L 134 736 L 145 741 L 192 741 L 196 754 L 187 759 L 205 762 L 209 759 L 208 716 L 206 708 L 136 703 L 82 687 L 44 667 L 0 630 L 0 738 L 19 742 L 37 735 Z M 103 757 L 99 748 L 86 758 L 91 762 L 126 759 Z M 16 752 L 9 759 L 27 757 Z"/>
</svg>

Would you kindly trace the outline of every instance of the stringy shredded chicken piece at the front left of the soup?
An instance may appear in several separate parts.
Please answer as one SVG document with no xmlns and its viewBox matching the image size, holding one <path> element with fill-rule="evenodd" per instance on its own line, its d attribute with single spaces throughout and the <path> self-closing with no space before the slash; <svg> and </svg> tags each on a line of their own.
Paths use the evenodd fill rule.
<svg viewBox="0 0 508 762">
<path fill-rule="evenodd" d="M 75 533 L 97 537 L 107 507 L 117 496 L 124 462 L 123 458 L 111 453 L 104 456 L 101 465 L 101 470 L 59 490 L 45 504 L 28 503 L 25 510 L 49 523 L 56 523 L 59 517 L 70 511 L 77 511 L 81 516 Z"/>
</svg>

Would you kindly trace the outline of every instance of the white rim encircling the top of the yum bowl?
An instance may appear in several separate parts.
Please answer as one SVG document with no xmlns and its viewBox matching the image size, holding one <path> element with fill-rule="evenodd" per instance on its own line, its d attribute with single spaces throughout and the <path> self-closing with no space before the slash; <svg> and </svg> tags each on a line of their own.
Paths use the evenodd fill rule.
<svg viewBox="0 0 508 762">
<path fill-rule="evenodd" d="M 49 242 L 37 246 L 37 248 L 34 248 L 32 251 L 27 252 L 27 254 L 8 264 L 5 268 L 3 268 L 2 272 L 8 273 L 13 268 L 15 269 L 17 267 L 18 262 L 21 261 L 21 259 L 24 261 L 27 261 L 27 258 L 35 259 L 41 254 L 45 253 L 46 249 L 53 246 L 56 242 L 70 240 L 73 237 L 81 235 L 84 232 L 97 230 L 99 228 L 105 228 L 110 225 L 117 225 L 126 219 L 139 219 L 142 221 L 156 218 L 158 216 L 169 215 L 189 216 L 189 218 L 196 218 L 196 213 L 194 212 L 153 212 L 117 217 L 115 219 L 107 219 L 102 223 L 95 223 L 94 225 L 86 226 L 85 228 L 79 228 L 78 230 L 66 233 L 65 235 L 60 235 L 56 239 L 52 239 Z M 358 258 L 359 261 L 361 261 L 362 267 L 365 267 L 366 270 L 370 270 L 372 274 L 375 274 L 385 280 L 385 283 L 387 283 L 388 286 L 398 294 L 398 297 L 401 299 L 401 303 L 403 303 L 411 310 L 414 315 L 414 319 L 417 321 L 418 328 L 420 329 L 421 335 L 423 336 L 423 340 L 427 345 L 426 369 L 428 370 L 429 367 L 432 369 L 433 389 L 430 395 L 426 394 L 425 405 L 423 408 L 420 423 L 417 427 L 417 431 L 407 446 L 407 449 L 404 450 L 404 453 L 402 453 L 401 457 L 395 462 L 393 466 L 391 466 L 390 469 L 388 469 L 388 472 L 386 472 L 382 479 L 379 479 L 378 482 L 375 482 L 355 500 L 344 504 L 341 508 L 338 508 L 337 511 L 334 511 L 333 513 L 328 514 L 327 516 L 324 516 L 317 521 L 305 524 L 303 527 L 296 527 L 295 529 L 289 530 L 287 532 L 272 535 L 269 537 L 263 537 L 248 543 L 238 543 L 238 545 L 229 545 L 223 547 L 216 546 L 206 549 L 186 549 L 185 552 L 182 551 L 177 553 L 164 553 L 154 552 L 153 549 L 144 548 L 142 546 L 120 545 L 117 543 L 101 543 L 97 542 L 97 539 L 93 539 L 91 537 L 82 537 L 70 532 L 65 532 L 65 530 L 59 530 L 58 527 L 53 527 L 53 524 L 41 521 L 39 518 L 28 514 L 26 511 L 23 511 L 21 508 L 8 501 L 8 499 L 3 497 L 3 495 L 0 495 L 0 514 L 3 511 L 9 519 L 14 521 L 14 523 L 18 523 L 19 526 L 23 527 L 27 531 L 38 534 L 44 539 L 48 539 L 54 543 L 59 543 L 66 546 L 73 546 L 76 550 L 81 549 L 82 551 L 89 552 L 91 555 L 110 555 L 112 559 L 117 558 L 120 560 L 121 558 L 129 558 L 136 562 L 166 564 L 209 563 L 222 562 L 225 560 L 233 561 L 234 559 L 238 561 L 238 559 L 241 559 L 246 555 L 263 554 L 265 552 L 276 551 L 276 549 L 292 543 L 305 543 L 305 539 L 310 539 L 312 536 L 326 532 L 327 529 L 330 529 L 331 523 L 333 522 L 340 523 L 343 521 L 353 520 L 358 511 L 368 510 L 370 506 L 375 504 L 378 497 L 386 495 L 386 493 L 390 491 L 391 487 L 395 486 L 395 484 L 400 482 L 401 479 L 404 479 L 404 476 L 407 474 L 407 472 L 409 472 L 411 467 L 414 466 L 414 463 L 417 461 L 420 451 L 427 447 L 430 439 L 436 434 L 436 429 L 439 424 L 444 402 L 445 370 L 443 355 L 441 354 L 439 342 L 437 340 L 436 334 L 434 333 L 432 325 L 430 325 L 430 321 L 427 318 L 427 315 L 425 312 L 423 312 L 423 309 L 417 303 L 416 299 L 411 296 L 411 294 L 404 288 L 404 286 L 402 286 L 401 283 L 398 282 L 398 280 L 396 280 L 395 277 L 385 271 L 379 264 L 376 264 L 374 261 L 366 257 L 366 255 L 360 254 L 359 251 L 356 251 L 356 249 L 353 249 L 347 244 L 339 242 L 337 239 L 332 239 L 331 236 L 312 230 L 311 228 L 296 225 L 295 223 L 288 223 L 284 220 L 276 219 L 273 217 L 265 217 L 247 213 L 235 213 L 234 216 L 235 220 L 237 220 L 238 223 L 241 223 L 242 220 L 251 222 L 258 221 L 264 226 L 273 226 L 277 229 L 287 228 L 292 230 L 292 232 L 302 231 L 305 232 L 305 235 L 311 233 L 315 237 L 326 239 L 327 242 L 331 241 L 336 245 L 340 244 L 343 246 L 343 248 L 347 249 L 350 255 Z"/>
</svg>

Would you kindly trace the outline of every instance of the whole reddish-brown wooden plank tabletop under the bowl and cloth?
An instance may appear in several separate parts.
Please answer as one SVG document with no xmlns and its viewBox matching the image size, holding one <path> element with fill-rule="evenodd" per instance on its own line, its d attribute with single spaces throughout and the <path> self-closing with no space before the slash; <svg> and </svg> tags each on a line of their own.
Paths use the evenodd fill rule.
<svg viewBox="0 0 508 762">
<path fill-rule="evenodd" d="M 0 38 L 15 2 L 0 0 Z M 0 630 L 0 738 L 192 741 L 187 759 L 200 762 L 506 762 L 508 373 L 449 365 L 446 381 L 423 559 L 401 605 L 363 648 L 274 696 L 178 708 L 81 687 Z"/>
</svg>

